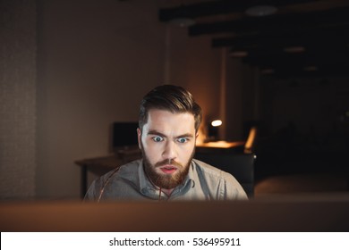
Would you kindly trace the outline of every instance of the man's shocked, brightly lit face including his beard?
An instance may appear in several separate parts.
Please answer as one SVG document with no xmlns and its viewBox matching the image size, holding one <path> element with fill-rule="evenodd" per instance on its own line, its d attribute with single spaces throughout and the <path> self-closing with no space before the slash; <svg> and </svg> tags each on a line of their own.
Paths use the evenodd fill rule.
<svg viewBox="0 0 349 250">
<path fill-rule="evenodd" d="M 142 131 L 139 146 L 149 179 L 157 187 L 171 189 L 183 182 L 195 152 L 194 116 L 152 109 Z"/>
</svg>

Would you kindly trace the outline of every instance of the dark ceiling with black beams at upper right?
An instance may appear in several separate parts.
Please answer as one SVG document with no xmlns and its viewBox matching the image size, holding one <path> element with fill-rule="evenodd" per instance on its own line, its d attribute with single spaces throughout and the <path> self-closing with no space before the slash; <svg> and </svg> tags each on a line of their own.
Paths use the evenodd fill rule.
<svg viewBox="0 0 349 250">
<path fill-rule="evenodd" d="M 246 14 L 257 5 L 275 6 L 277 12 Z M 349 75 L 349 0 L 188 1 L 160 9 L 158 17 L 195 21 L 187 28 L 190 37 L 210 36 L 212 49 L 227 47 L 232 56 L 245 52 L 243 63 L 265 74 Z"/>
</svg>

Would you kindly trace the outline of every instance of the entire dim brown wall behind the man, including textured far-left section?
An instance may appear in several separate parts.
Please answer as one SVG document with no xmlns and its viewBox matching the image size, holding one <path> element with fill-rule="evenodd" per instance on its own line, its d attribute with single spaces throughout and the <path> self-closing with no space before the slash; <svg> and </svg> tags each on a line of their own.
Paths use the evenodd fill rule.
<svg viewBox="0 0 349 250">
<path fill-rule="evenodd" d="M 109 154 L 111 124 L 137 120 L 159 84 L 225 109 L 222 50 L 160 23 L 161 1 L 1 3 L 1 197 L 78 198 L 74 161 Z"/>
</svg>

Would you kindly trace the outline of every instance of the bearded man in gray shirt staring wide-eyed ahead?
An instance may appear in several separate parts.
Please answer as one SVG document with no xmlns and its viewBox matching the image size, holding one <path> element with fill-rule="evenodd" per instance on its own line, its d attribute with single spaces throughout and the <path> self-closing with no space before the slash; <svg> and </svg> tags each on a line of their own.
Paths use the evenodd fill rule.
<svg viewBox="0 0 349 250">
<path fill-rule="evenodd" d="M 231 174 L 193 159 L 201 119 L 199 104 L 183 87 L 155 87 L 140 104 L 142 159 L 95 180 L 85 199 L 247 199 Z"/>
</svg>

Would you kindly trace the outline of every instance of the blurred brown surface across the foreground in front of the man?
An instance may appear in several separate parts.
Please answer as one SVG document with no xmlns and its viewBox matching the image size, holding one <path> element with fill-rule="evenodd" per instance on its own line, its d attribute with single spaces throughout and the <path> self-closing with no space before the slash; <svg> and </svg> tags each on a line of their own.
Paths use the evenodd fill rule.
<svg viewBox="0 0 349 250">
<path fill-rule="evenodd" d="M 3 202 L 0 205 L 0 230 L 2 232 L 347 232 L 348 211 L 347 195 L 339 199 L 328 195 L 322 195 L 320 198 L 314 195 L 305 195 L 301 198 L 269 197 L 261 200 L 251 199 L 248 202 L 120 201 L 96 204 L 80 201 L 35 203 L 16 201 Z M 168 216 L 169 214 L 174 216 Z M 204 223 L 202 223 L 203 218 L 205 218 Z M 248 238 L 246 243 L 247 240 Z"/>
</svg>

